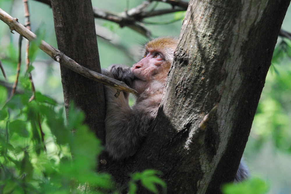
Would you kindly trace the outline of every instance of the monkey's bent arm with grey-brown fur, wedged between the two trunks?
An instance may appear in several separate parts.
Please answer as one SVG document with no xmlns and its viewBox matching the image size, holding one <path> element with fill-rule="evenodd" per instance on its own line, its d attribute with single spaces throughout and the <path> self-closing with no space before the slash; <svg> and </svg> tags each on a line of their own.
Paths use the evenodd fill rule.
<svg viewBox="0 0 291 194">
<path fill-rule="evenodd" d="M 113 77 L 108 70 L 102 74 Z M 122 159 L 133 155 L 153 120 L 143 109 L 130 108 L 128 97 L 120 93 L 114 97 L 116 89 L 104 85 L 106 100 L 106 150 L 114 159 Z M 126 96 L 126 97 L 125 97 Z"/>
</svg>

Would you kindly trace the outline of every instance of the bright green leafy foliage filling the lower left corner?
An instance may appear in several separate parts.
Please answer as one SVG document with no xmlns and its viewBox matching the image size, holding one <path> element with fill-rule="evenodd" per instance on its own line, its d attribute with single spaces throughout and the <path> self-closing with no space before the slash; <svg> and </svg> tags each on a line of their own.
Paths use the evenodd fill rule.
<svg viewBox="0 0 291 194">
<path fill-rule="evenodd" d="M 30 102 L 28 90 L 11 99 L 6 88 L 0 93 L 0 193 L 80 193 L 85 184 L 97 191 L 113 188 L 110 175 L 95 172 L 102 146 L 80 110 L 71 105 L 66 124 L 63 108 L 41 93 Z"/>
</svg>

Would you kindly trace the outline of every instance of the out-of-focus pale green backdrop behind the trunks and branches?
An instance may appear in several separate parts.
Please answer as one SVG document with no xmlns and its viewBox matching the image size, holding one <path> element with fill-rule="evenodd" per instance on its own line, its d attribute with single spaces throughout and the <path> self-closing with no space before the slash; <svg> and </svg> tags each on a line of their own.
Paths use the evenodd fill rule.
<svg viewBox="0 0 291 194">
<path fill-rule="evenodd" d="M 95 1 L 93 6 L 122 12 L 126 8 L 139 5 L 142 0 Z M 45 30 L 44 40 L 57 47 L 54 34 L 52 9 L 36 1 L 29 1 L 31 29 Z M 161 8 L 170 8 L 159 3 Z M 20 0 L 0 0 L 0 8 L 24 24 L 23 2 Z M 154 37 L 179 36 L 184 12 L 148 18 L 145 24 Z M 169 23 L 169 21 L 177 20 Z M 101 66 L 125 64 L 131 66 L 139 59 L 141 44 L 147 41 L 142 35 L 116 23 L 95 19 L 96 28 L 105 32 L 111 42 L 97 37 Z M 282 28 L 291 32 L 291 9 L 288 10 Z M 105 31 L 104 31 L 105 30 Z M 272 30 L 272 29 L 270 29 Z M 18 58 L 18 35 L 10 33 L 8 26 L 0 21 L 0 60 L 3 63 L 8 82 L 16 77 Z M 118 48 L 119 47 L 119 48 Z M 120 49 L 122 48 L 122 49 Z M 23 56 L 24 46 L 22 49 Z M 291 41 L 278 38 L 274 60 L 267 75 L 257 114 L 255 115 L 244 158 L 253 176 L 261 177 L 270 186 L 269 193 L 291 193 Z M 24 58 L 24 57 L 23 57 Z M 23 60 L 24 61 L 24 60 Z M 25 73 L 22 65 L 21 74 Z M 33 62 L 33 81 L 36 90 L 48 95 L 63 105 L 63 92 L 59 64 L 44 52 L 39 51 Z M 0 76 L 0 80 L 4 80 Z"/>
</svg>

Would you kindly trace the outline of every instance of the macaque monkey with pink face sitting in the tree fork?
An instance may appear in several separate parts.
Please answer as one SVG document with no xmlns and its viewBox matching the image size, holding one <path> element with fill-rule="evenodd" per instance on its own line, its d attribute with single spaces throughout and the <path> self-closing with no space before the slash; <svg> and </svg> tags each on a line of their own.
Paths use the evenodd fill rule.
<svg viewBox="0 0 291 194">
<path fill-rule="evenodd" d="M 157 115 L 177 44 L 178 40 L 170 37 L 153 39 L 145 44 L 143 58 L 132 68 L 113 65 L 102 70 L 104 75 L 123 81 L 137 91 L 136 103 L 130 107 L 128 93 L 121 92 L 116 98 L 116 89 L 104 85 L 107 108 L 105 147 L 113 159 L 134 155 L 147 134 Z M 238 172 L 241 180 L 244 171 L 240 169 Z"/>
</svg>

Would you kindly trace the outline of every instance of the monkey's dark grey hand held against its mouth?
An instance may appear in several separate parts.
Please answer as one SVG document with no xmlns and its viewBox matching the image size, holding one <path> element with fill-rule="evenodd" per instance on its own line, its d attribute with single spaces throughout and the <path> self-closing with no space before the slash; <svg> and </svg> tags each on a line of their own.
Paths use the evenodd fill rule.
<svg viewBox="0 0 291 194">
<path fill-rule="evenodd" d="M 109 67 L 109 70 L 112 73 L 114 79 L 123 81 L 126 85 L 131 87 L 134 75 L 129 67 L 112 65 Z"/>
</svg>

